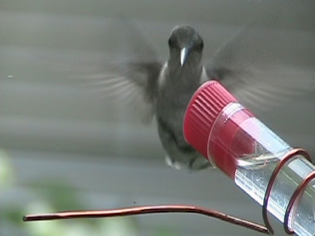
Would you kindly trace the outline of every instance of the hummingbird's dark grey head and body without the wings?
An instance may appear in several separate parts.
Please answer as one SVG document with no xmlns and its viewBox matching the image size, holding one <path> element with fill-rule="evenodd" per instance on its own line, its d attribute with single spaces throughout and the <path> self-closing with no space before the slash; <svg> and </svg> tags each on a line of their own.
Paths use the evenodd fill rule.
<svg viewBox="0 0 315 236">
<path fill-rule="evenodd" d="M 169 59 L 158 76 L 155 95 L 158 134 L 168 153 L 167 164 L 177 169 L 182 166 L 203 169 L 210 165 L 185 141 L 183 134 L 183 118 L 189 101 L 196 89 L 208 80 L 201 63 L 202 46 L 202 39 L 194 29 L 188 26 L 173 29 Z"/>
</svg>

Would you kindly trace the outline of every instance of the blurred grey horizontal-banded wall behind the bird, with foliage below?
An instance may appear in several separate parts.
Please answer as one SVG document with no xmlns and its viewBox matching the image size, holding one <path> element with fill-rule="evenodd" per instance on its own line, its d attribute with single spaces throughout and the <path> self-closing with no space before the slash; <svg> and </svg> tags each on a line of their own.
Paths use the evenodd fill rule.
<svg viewBox="0 0 315 236">
<path fill-rule="evenodd" d="M 0 235 L 255 234 L 189 214 L 35 223 L 23 223 L 22 216 L 196 204 L 261 222 L 260 207 L 232 180 L 218 170 L 170 169 L 155 121 L 137 122 L 131 109 L 112 105 L 83 83 L 101 76 L 103 63 L 113 57 L 146 55 L 154 46 L 165 60 L 167 39 L 179 24 L 194 26 L 203 36 L 207 64 L 223 42 L 260 16 L 259 30 L 235 51 L 236 64 L 277 68 L 296 74 L 297 83 L 312 77 L 314 1 L 1 0 Z M 130 37 L 118 23 L 122 17 L 137 26 L 148 45 Z M 271 112 L 252 110 L 289 144 L 314 156 L 314 98 L 313 91 Z M 278 221 L 272 225 L 276 235 L 284 234 Z"/>
</svg>

